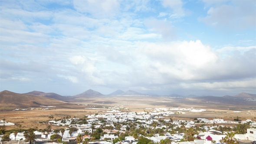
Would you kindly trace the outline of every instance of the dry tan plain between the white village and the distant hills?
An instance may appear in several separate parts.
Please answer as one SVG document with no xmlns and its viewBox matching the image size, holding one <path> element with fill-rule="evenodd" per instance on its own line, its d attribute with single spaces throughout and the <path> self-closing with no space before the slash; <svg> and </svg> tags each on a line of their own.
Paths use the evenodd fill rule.
<svg viewBox="0 0 256 144">
<path fill-rule="evenodd" d="M 171 118 L 174 120 L 223 118 L 224 120 L 233 121 L 233 119 L 238 116 L 241 120 L 251 119 L 256 121 L 256 109 L 252 108 L 253 106 L 255 107 L 255 105 L 250 105 L 250 103 L 249 105 L 247 103 L 241 105 L 203 103 L 195 100 L 192 101 L 189 98 L 160 98 L 148 96 L 126 96 L 120 98 L 118 96 L 105 96 L 100 98 L 88 97 L 84 99 L 72 99 L 68 105 L 56 106 L 56 108 L 50 108 L 49 110 L 42 110 L 42 107 L 40 107 L 28 111 L 0 111 L 0 119 L 5 118 L 7 122 L 16 124 L 15 126 L 7 126 L 7 130 L 17 129 L 18 124 L 21 124 L 24 129 L 36 127 L 38 129 L 43 129 L 47 127 L 47 124 L 42 124 L 40 122 L 49 121 L 50 115 L 53 115 L 56 119 L 60 119 L 64 116 L 82 118 L 84 115 L 105 113 L 107 110 L 104 110 L 104 108 L 124 107 L 127 109 L 124 109 L 123 111 L 152 111 L 152 109 L 147 108 L 195 108 L 207 110 L 203 112 L 184 111 L 186 114 L 171 115 Z M 168 118 L 170 117 L 167 117 L 167 119 Z M 53 126 L 53 129 L 54 128 L 61 127 Z"/>
</svg>

